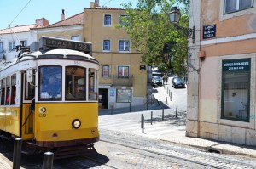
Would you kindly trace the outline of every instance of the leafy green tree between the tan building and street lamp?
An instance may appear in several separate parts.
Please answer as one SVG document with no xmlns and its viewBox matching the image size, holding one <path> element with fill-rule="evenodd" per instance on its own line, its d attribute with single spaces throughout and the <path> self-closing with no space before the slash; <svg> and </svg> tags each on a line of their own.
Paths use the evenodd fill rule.
<svg viewBox="0 0 256 169">
<path fill-rule="evenodd" d="M 177 5 L 182 7 L 184 13 L 180 25 L 188 27 L 188 0 L 138 0 L 137 8 L 131 8 L 131 2 L 124 3 L 127 16 L 122 20 L 132 46 L 143 54 L 143 63 L 165 72 L 172 67 L 181 75 L 185 71 L 188 41 L 168 17 L 171 8 Z"/>
</svg>

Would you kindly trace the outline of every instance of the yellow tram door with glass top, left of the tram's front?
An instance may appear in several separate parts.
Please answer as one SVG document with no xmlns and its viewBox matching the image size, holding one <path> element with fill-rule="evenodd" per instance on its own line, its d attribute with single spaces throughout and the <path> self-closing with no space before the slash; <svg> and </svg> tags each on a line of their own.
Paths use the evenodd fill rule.
<svg viewBox="0 0 256 169">
<path fill-rule="evenodd" d="M 33 75 L 33 81 L 35 80 Z M 35 97 L 35 82 L 27 82 L 26 72 L 22 73 L 22 138 L 34 138 L 34 112 L 31 109 Z"/>
</svg>

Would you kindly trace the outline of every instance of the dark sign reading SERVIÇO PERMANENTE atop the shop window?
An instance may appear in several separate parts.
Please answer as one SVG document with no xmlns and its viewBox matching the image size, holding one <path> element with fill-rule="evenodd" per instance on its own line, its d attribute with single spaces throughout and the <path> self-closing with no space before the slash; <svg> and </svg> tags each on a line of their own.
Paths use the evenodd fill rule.
<svg viewBox="0 0 256 169">
<path fill-rule="evenodd" d="M 249 71 L 251 69 L 251 59 L 229 59 L 223 60 L 223 71 Z"/>
</svg>

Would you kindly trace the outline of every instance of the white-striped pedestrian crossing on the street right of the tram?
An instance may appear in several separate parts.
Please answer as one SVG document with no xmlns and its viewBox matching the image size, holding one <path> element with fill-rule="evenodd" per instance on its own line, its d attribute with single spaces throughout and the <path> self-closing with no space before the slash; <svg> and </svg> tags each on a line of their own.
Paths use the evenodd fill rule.
<svg viewBox="0 0 256 169">
<path fill-rule="evenodd" d="M 144 134 L 153 138 L 172 137 L 175 135 L 184 135 L 185 126 L 172 125 L 170 121 L 151 121 L 144 122 L 144 129 L 141 128 L 140 120 L 130 120 L 117 118 L 114 115 L 99 116 L 99 130 L 106 129 L 117 132 L 129 132 L 133 134 Z"/>
</svg>

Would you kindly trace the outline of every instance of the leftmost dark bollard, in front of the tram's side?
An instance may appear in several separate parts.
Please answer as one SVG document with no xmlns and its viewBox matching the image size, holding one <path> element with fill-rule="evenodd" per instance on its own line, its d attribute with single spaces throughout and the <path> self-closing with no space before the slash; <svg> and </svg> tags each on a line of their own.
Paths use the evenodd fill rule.
<svg viewBox="0 0 256 169">
<path fill-rule="evenodd" d="M 21 154 L 22 139 L 15 138 L 13 169 L 20 169 L 20 154 Z"/>
</svg>

